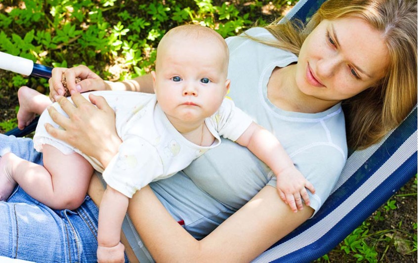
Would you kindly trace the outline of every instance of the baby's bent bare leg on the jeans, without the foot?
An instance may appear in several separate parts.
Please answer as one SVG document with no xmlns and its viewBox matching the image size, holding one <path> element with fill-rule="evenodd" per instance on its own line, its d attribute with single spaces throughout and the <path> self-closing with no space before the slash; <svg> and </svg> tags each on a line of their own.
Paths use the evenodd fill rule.
<svg viewBox="0 0 418 263">
<path fill-rule="evenodd" d="M 65 155 L 43 145 L 44 166 L 22 159 L 14 163 L 13 179 L 38 201 L 53 209 L 70 210 L 83 203 L 93 168 L 80 154 Z"/>
</svg>

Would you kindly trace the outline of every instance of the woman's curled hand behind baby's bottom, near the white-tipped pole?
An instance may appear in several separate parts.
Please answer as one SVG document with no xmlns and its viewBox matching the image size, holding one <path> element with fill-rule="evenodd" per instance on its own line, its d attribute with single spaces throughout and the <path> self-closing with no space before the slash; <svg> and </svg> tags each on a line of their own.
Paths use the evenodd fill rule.
<svg viewBox="0 0 418 263">
<path fill-rule="evenodd" d="M 54 68 L 52 69 L 52 77 L 49 79 L 49 98 L 52 102 L 55 102 L 58 96 L 64 95 L 62 75 L 65 75 L 67 88 L 71 94 L 89 90 L 111 89 L 109 84 L 84 65 L 71 69 Z M 76 77 L 80 77 L 82 81 L 76 84 Z"/>
</svg>

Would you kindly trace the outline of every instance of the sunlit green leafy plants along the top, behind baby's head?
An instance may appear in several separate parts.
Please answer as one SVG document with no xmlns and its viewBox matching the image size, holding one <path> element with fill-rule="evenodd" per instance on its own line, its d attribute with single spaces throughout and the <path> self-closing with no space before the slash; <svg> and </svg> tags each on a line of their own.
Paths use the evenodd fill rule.
<svg viewBox="0 0 418 263">
<path fill-rule="evenodd" d="M 273 21 L 281 15 L 283 4 L 288 3 L 5 0 L 0 6 L 0 51 L 44 65 L 59 65 L 63 61 L 68 67 L 93 65 L 103 77 L 123 80 L 152 70 L 158 42 L 172 27 L 201 24 L 226 38 L 255 24 L 264 25 L 265 17 Z M 274 5 L 271 14 L 263 14 L 266 5 Z M 115 65 L 120 72 L 106 72 Z M 13 80 L 13 84 L 23 82 Z"/>
</svg>

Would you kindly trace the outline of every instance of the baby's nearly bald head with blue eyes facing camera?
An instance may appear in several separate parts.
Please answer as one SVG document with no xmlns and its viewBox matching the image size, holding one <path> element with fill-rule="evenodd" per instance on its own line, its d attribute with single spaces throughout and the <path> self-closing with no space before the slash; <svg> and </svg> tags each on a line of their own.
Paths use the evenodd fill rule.
<svg viewBox="0 0 418 263">
<path fill-rule="evenodd" d="M 215 113 L 229 89 L 228 60 L 225 40 L 212 29 L 184 25 L 168 31 L 152 72 L 161 109 L 190 123 Z"/>
</svg>

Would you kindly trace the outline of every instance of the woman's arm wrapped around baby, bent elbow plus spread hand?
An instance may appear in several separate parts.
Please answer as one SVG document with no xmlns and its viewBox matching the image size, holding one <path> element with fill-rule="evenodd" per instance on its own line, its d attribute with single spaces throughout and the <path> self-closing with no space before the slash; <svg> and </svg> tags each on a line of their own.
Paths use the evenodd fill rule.
<svg viewBox="0 0 418 263">
<path fill-rule="evenodd" d="M 70 119 L 51 111 L 52 119 L 65 131 L 47 127 L 52 136 L 98 159 L 104 167 L 121 144 L 112 109 L 102 97 L 90 100 L 76 93 L 76 106 L 61 97 L 58 102 Z M 112 122 L 113 121 L 113 122 Z M 111 128 L 113 127 L 113 128 Z M 157 261 L 250 261 L 308 219 L 312 208 L 293 213 L 276 188 L 264 187 L 245 206 L 198 241 L 167 212 L 149 187 L 136 192 L 128 213 L 147 248 Z"/>
</svg>

